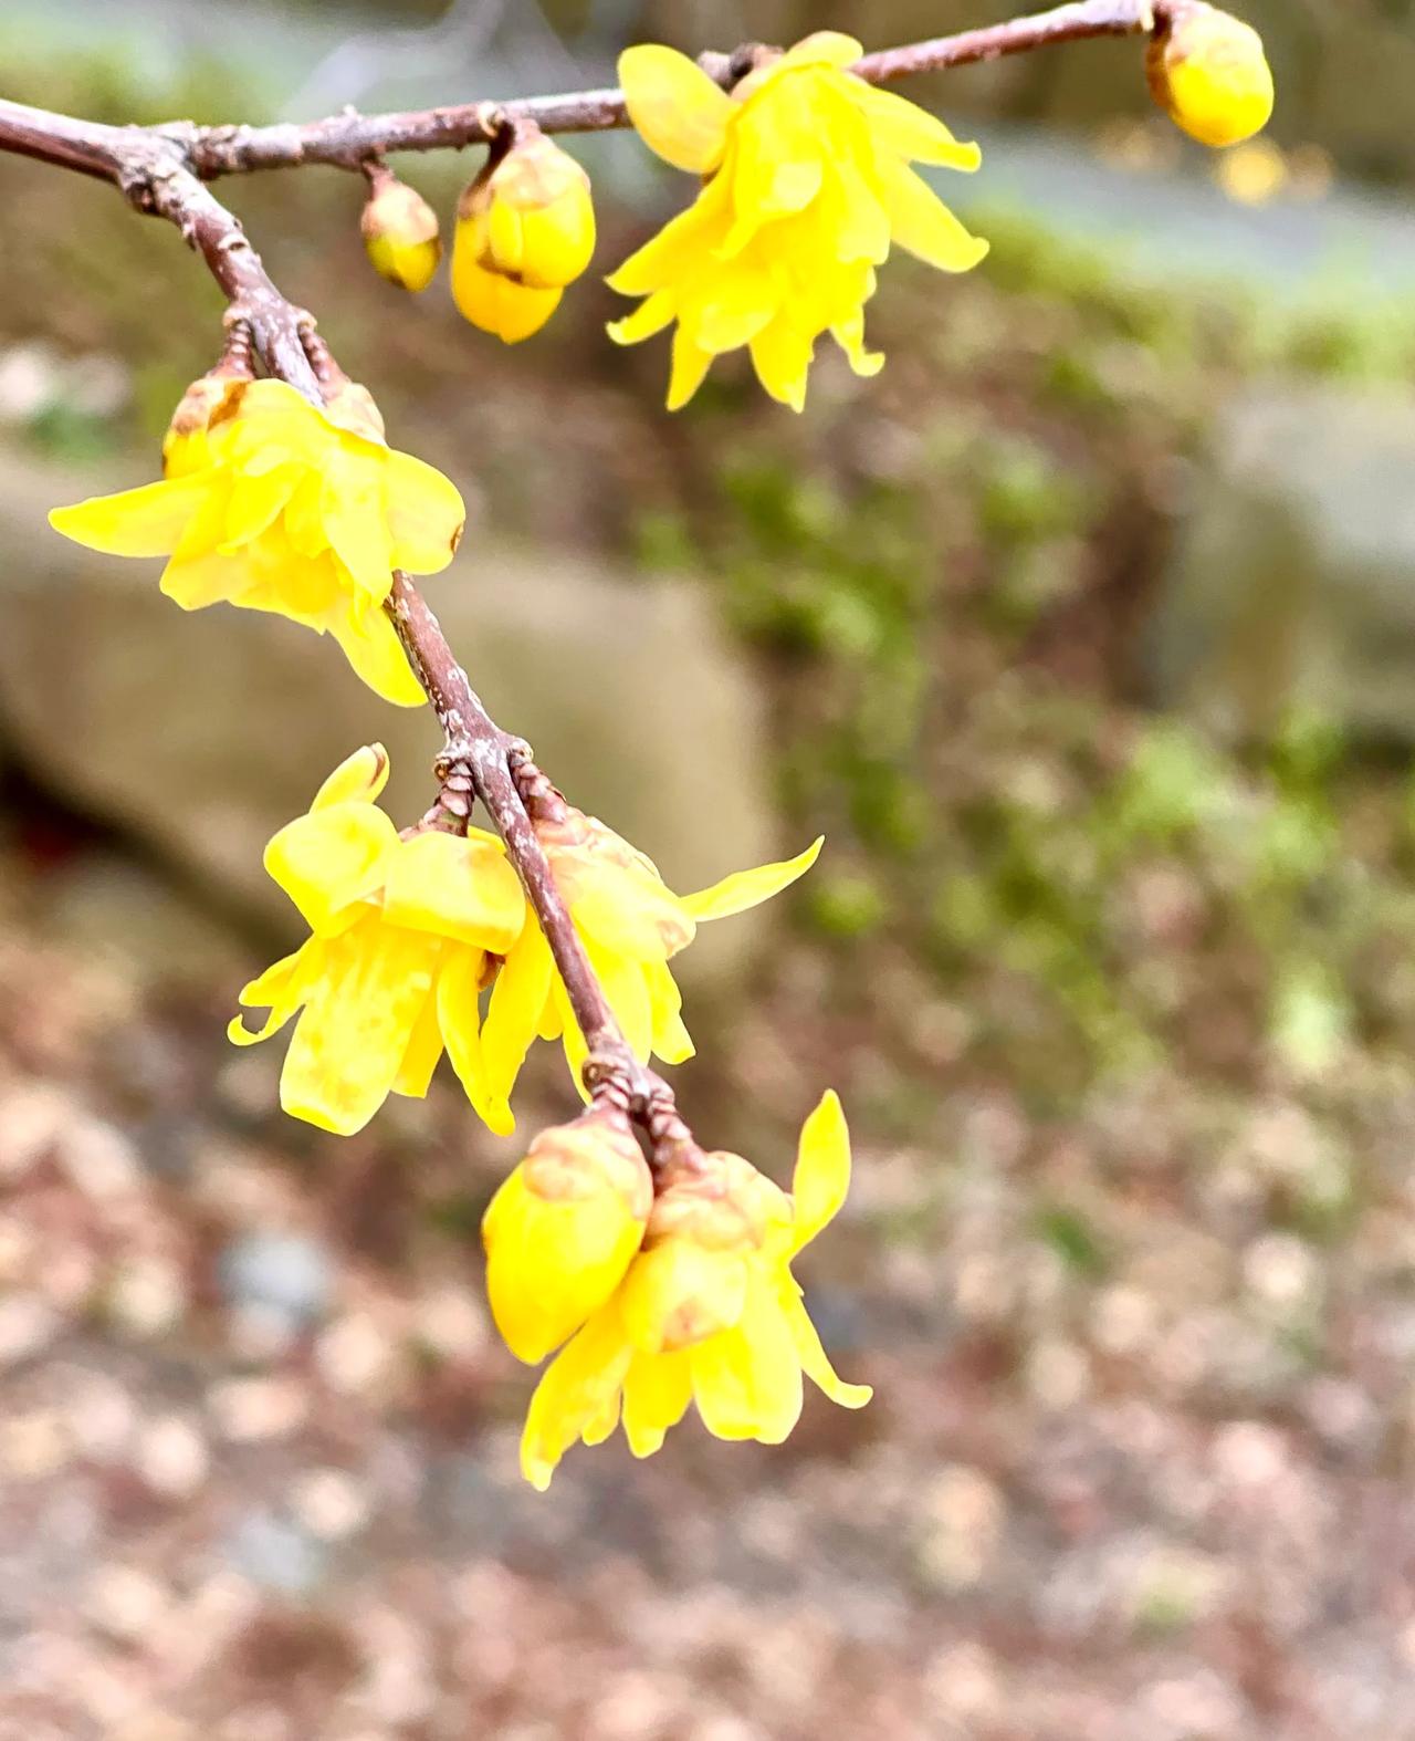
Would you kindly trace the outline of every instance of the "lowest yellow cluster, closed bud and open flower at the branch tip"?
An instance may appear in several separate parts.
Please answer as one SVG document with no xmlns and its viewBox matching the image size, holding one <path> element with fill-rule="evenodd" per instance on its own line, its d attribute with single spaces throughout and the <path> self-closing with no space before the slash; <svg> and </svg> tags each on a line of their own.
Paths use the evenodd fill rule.
<svg viewBox="0 0 1415 1741">
<path fill-rule="evenodd" d="M 540 1139 L 484 1222 L 508 1346 L 541 1360 L 564 1342 L 526 1415 L 526 1480 L 548 1487 L 571 1445 L 600 1443 L 620 1419 L 647 1457 L 689 1403 L 717 1438 L 780 1445 L 802 1375 L 863 1407 L 868 1388 L 837 1377 L 790 1271 L 849 1189 L 835 1095 L 801 1130 L 790 1196 L 740 1154 L 686 1146 L 649 1200 L 627 1132 L 593 1112 L 580 1126 L 592 1121 Z"/>
</svg>

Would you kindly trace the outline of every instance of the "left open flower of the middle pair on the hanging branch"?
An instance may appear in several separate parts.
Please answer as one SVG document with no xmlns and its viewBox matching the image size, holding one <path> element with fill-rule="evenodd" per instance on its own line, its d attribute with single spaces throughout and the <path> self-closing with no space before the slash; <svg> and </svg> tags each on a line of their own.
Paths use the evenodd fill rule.
<svg viewBox="0 0 1415 1741">
<path fill-rule="evenodd" d="M 444 1046 L 482 1112 L 479 998 L 489 956 L 526 923 L 501 843 L 479 829 L 400 837 L 376 804 L 386 780 L 383 747 L 359 750 L 266 846 L 266 870 L 312 935 L 240 992 L 270 1010 L 265 1024 L 228 1029 L 256 1045 L 299 1010 L 280 1106 L 345 1137 L 390 1092 L 425 1095 Z"/>
</svg>

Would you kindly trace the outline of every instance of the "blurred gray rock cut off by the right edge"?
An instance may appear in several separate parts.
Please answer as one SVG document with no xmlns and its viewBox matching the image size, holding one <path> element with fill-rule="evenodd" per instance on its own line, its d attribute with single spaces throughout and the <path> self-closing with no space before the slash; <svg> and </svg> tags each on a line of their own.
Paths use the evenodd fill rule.
<svg viewBox="0 0 1415 1741">
<path fill-rule="evenodd" d="M 1415 402 L 1237 399 L 1196 475 L 1145 656 L 1157 700 L 1225 735 L 1286 709 L 1415 740 Z"/>
</svg>

